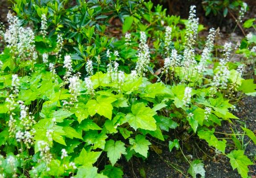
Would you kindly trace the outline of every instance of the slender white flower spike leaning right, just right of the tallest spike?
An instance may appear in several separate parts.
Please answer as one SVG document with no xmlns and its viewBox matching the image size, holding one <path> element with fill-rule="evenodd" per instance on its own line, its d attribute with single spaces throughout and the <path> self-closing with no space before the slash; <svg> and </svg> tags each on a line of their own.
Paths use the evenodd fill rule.
<svg viewBox="0 0 256 178">
<path fill-rule="evenodd" d="M 213 42 L 215 39 L 215 33 L 215 29 L 211 28 L 209 35 L 207 36 L 207 41 L 203 49 L 201 60 L 199 62 L 199 65 L 196 67 L 199 73 L 203 73 L 205 71 L 206 61 L 211 57 L 211 51 L 214 46 Z"/>
</svg>

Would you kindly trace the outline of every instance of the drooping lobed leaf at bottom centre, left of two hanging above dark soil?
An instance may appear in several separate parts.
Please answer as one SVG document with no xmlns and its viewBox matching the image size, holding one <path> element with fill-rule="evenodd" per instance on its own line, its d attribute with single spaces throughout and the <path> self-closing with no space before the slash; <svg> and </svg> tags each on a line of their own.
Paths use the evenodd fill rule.
<svg viewBox="0 0 256 178">
<path fill-rule="evenodd" d="M 127 154 L 125 144 L 121 141 L 114 142 L 114 140 L 106 142 L 105 151 L 108 158 L 110 158 L 112 166 L 121 158 L 122 154 Z"/>
</svg>

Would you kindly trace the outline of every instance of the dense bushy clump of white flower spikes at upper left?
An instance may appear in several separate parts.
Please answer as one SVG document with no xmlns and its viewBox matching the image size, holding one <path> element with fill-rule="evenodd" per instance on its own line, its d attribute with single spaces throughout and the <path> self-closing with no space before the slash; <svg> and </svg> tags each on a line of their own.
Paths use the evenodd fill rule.
<svg viewBox="0 0 256 178">
<path fill-rule="evenodd" d="M 4 34 L 4 40 L 12 52 L 19 57 L 33 57 L 35 51 L 35 35 L 31 28 L 23 28 L 16 16 L 7 15 L 9 27 Z"/>
</svg>

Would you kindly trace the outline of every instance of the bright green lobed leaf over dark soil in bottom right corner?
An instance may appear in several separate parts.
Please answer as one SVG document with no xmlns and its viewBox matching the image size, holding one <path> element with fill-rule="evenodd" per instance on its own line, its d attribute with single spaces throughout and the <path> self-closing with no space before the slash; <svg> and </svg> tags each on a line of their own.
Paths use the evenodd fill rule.
<svg viewBox="0 0 256 178">
<path fill-rule="evenodd" d="M 233 150 L 227 157 L 230 159 L 229 162 L 231 163 L 233 170 L 237 169 L 242 178 L 247 178 L 249 171 L 247 166 L 253 165 L 253 163 L 244 155 L 244 151 Z"/>
</svg>

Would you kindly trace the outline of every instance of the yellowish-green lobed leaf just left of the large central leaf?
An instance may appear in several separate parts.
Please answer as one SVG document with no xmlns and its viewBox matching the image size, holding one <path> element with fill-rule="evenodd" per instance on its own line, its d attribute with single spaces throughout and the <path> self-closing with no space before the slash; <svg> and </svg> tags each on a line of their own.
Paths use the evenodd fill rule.
<svg viewBox="0 0 256 178">
<path fill-rule="evenodd" d="M 101 116 L 105 116 L 111 120 L 112 118 L 112 102 L 117 99 L 114 97 L 105 97 L 99 96 L 96 100 L 89 100 L 85 107 L 88 108 L 88 113 L 93 116 L 95 113 L 98 113 Z"/>
</svg>

